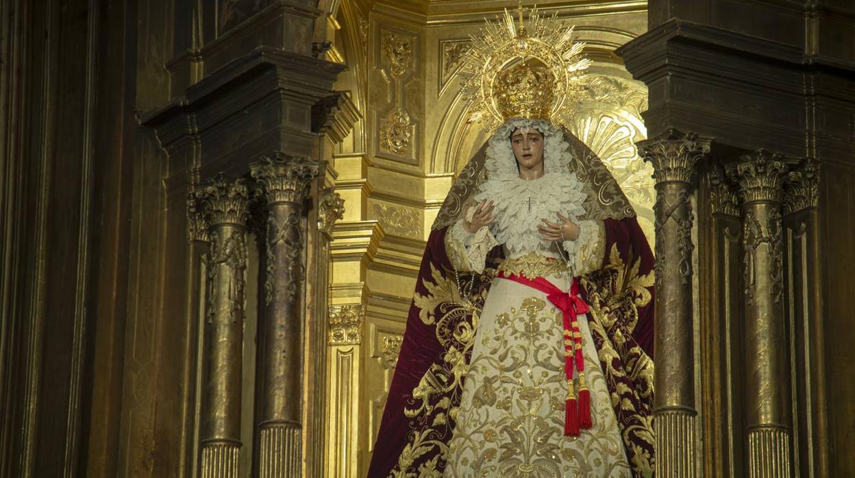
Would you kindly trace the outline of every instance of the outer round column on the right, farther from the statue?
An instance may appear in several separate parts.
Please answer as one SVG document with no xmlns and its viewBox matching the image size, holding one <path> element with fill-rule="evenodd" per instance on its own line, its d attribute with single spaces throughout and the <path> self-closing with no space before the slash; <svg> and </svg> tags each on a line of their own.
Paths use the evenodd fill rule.
<svg viewBox="0 0 855 478">
<path fill-rule="evenodd" d="M 781 198 L 788 165 L 758 150 L 728 165 L 740 186 L 745 254 L 748 475 L 792 473 L 792 402 L 784 316 Z"/>
</svg>

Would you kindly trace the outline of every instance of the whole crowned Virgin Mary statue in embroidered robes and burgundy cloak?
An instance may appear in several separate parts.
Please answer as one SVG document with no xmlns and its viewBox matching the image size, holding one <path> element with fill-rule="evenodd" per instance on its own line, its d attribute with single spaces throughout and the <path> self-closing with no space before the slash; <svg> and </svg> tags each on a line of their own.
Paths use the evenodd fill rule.
<svg viewBox="0 0 855 478">
<path fill-rule="evenodd" d="M 433 224 L 371 477 L 652 474 L 652 253 L 553 122 L 587 67 L 572 28 L 529 22 L 474 38 L 473 109 L 500 126 Z"/>
</svg>

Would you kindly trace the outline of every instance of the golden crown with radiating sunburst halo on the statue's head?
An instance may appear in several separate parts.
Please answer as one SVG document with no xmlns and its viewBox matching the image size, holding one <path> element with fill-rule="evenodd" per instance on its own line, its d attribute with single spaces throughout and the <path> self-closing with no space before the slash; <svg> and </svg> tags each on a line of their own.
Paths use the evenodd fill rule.
<svg viewBox="0 0 855 478">
<path fill-rule="evenodd" d="M 585 44 L 575 41 L 574 27 L 564 27 L 557 14 L 541 16 L 530 9 L 526 29 L 522 2 L 516 23 L 507 9 L 502 21 L 485 20 L 465 57 L 461 76 L 463 97 L 472 114 L 469 121 L 490 126 L 511 118 L 563 122 L 581 99 L 585 70 L 591 61 L 582 56 Z"/>
</svg>

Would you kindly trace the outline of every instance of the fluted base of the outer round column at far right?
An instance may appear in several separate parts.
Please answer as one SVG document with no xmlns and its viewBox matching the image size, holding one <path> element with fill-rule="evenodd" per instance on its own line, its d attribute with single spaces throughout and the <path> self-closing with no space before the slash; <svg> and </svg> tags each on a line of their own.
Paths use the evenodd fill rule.
<svg viewBox="0 0 855 478">
<path fill-rule="evenodd" d="M 750 478 L 789 478 L 790 433 L 784 428 L 752 428 L 748 432 L 748 476 Z"/>
</svg>

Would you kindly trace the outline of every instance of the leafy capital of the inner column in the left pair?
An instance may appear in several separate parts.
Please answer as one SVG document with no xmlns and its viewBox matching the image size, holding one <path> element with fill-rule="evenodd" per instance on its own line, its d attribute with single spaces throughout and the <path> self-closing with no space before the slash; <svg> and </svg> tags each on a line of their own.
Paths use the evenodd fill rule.
<svg viewBox="0 0 855 478">
<path fill-rule="evenodd" d="M 264 157 L 253 167 L 252 177 L 267 192 L 268 203 L 300 204 L 319 168 L 320 164 L 310 159 L 277 154 Z"/>
</svg>

